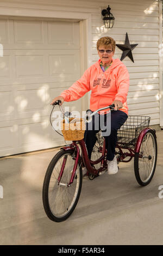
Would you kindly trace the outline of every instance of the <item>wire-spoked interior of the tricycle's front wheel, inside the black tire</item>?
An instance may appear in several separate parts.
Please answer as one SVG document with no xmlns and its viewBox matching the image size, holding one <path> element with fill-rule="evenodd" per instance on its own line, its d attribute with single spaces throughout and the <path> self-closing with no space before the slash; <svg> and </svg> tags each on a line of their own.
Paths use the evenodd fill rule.
<svg viewBox="0 0 163 256">
<path fill-rule="evenodd" d="M 44 204 L 48 204 L 54 220 L 58 218 L 66 218 L 69 212 L 74 209 L 74 204 L 77 203 L 77 197 L 82 187 L 82 176 L 80 176 L 80 169 L 82 163 L 80 163 L 80 166 L 79 164 L 77 166 L 76 179 L 74 178 L 73 183 L 68 186 L 75 163 L 75 160 L 72 159 L 73 150 L 69 151 L 71 151 L 71 153 L 62 151 L 62 154 L 60 153 L 60 156 L 58 156 L 58 158 L 55 160 L 54 166 L 51 167 L 52 170 L 47 184 L 48 198 Z M 65 156 L 67 157 L 66 164 L 61 176 L 61 180 L 58 181 L 58 177 L 60 175 L 62 163 Z"/>
</svg>

